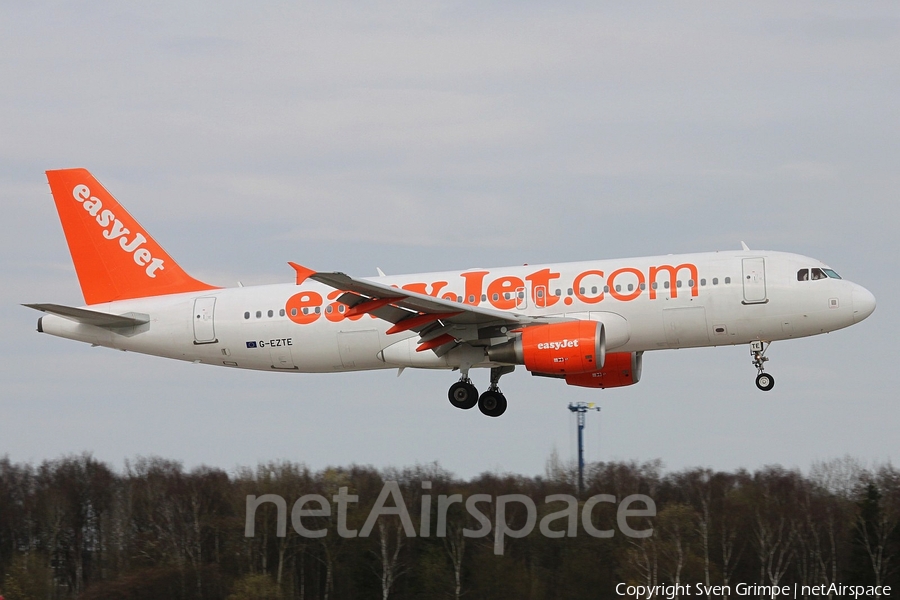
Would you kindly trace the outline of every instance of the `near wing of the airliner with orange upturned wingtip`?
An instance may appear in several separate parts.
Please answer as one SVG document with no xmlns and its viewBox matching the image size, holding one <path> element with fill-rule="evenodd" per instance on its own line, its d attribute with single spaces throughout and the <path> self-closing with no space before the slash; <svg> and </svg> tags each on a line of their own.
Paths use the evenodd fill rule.
<svg viewBox="0 0 900 600">
<path fill-rule="evenodd" d="M 319 273 L 295 263 L 290 264 L 297 271 L 298 283 L 308 278 L 344 291 L 337 300 L 350 307 L 347 316 L 371 313 L 394 324 L 388 329 L 388 334 L 402 331 L 418 333 L 419 351 L 433 349 L 440 354 L 458 342 L 486 346 L 491 344 L 491 338 L 505 337 L 510 329 L 568 320 L 530 317 L 473 306 L 357 279 L 344 273 Z"/>
</svg>

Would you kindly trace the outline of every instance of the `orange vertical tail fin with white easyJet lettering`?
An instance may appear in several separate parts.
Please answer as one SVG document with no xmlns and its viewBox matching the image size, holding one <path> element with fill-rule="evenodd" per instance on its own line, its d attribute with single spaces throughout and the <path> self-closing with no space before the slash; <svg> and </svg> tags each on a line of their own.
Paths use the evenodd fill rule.
<svg viewBox="0 0 900 600">
<path fill-rule="evenodd" d="M 88 304 L 217 289 L 185 273 L 87 170 L 47 181 Z"/>
</svg>

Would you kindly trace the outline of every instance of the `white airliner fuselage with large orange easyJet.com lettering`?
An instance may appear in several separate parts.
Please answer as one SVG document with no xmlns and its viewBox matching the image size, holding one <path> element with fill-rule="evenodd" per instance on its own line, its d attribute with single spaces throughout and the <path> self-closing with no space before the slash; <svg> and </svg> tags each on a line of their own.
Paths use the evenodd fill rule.
<svg viewBox="0 0 900 600">
<path fill-rule="evenodd" d="M 834 331 L 867 317 L 874 298 L 827 277 L 801 280 L 821 262 L 782 252 L 711 252 L 372 278 L 463 304 L 529 316 L 602 321 L 610 352 L 744 344 Z M 674 275 L 672 275 L 674 273 Z M 493 366 L 481 347 L 416 352 L 418 334 L 344 316 L 339 291 L 306 281 L 95 304 L 149 316 L 110 330 L 55 315 L 46 333 L 100 346 L 244 369 L 339 372 Z"/>
</svg>

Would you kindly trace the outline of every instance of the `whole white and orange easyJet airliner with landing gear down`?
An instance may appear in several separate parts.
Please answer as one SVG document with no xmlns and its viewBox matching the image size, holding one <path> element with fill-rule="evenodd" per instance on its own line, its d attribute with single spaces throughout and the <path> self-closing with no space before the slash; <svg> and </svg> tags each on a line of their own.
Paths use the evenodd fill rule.
<svg viewBox="0 0 900 600">
<path fill-rule="evenodd" d="M 291 284 L 189 276 L 84 169 L 47 179 L 86 306 L 27 304 L 38 331 L 167 358 L 289 373 L 460 372 L 458 408 L 506 410 L 524 367 L 568 385 L 637 383 L 644 352 L 749 344 L 756 385 L 776 340 L 857 323 L 874 296 L 818 260 L 743 250 L 357 278 L 290 263 Z M 479 395 L 473 368 L 490 369 Z"/>
</svg>

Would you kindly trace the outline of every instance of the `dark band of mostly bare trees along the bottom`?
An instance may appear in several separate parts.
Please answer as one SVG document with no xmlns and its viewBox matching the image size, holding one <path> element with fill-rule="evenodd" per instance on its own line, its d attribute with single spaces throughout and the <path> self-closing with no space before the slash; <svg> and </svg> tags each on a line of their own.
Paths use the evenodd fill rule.
<svg viewBox="0 0 900 600">
<path fill-rule="evenodd" d="M 116 472 L 89 455 L 39 466 L 0 460 L 0 595 L 571 599 L 615 598 L 622 582 L 840 582 L 898 589 L 900 473 L 890 465 L 867 469 L 843 459 L 804 475 L 780 467 L 664 473 L 659 463 L 597 463 L 585 479 L 577 529 L 570 530 L 566 502 L 547 501 L 574 495 L 573 469 L 555 459 L 543 477 L 485 473 L 470 481 L 438 465 L 315 472 L 278 462 L 227 473 L 141 458 Z M 363 536 L 388 481 L 397 482 L 409 518 L 381 516 Z M 343 523 L 337 504 L 328 514 L 315 500 L 294 506 L 303 496 L 331 502 L 341 493 L 358 498 L 344 505 Z M 456 494 L 463 502 L 439 502 Z M 498 522 L 497 499 L 510 494 L 530 498 L 541 524 L 527 536 L 506 537 L 498 554 L 495 527 L 483 537 L 465 533 L 484 533 L 485 523 L 465 503 L 476 494 L 486 495 L 476 512 L 489 525 Z M 615 502 L 634 494 L 651 498 L 656 515 L 631 516 L 628 525 L 653 534 L 625 535 L 609 496 L 582 510 L 600 494 Z M 285 500 L 283 537 L 278 503 L 269 501 L 255 511 L 255 535 L 245 535 L 248 496 Z M 396 500 L 391 496 L 381 506 L 394 507 Z M 307 512 L 292 515 L 292 508 Z M 590 523 L 582 522 L 583 512 Z M 527 503 L 506 504 L 503 521 L 510 530 L 521 530 L 527 518 Z M 551 520 L 546 529 L 545 519 Z M 319 537 L 298 534 L 297 523 Z M 595 537 L 586 526 L 613 534 Z"/>
</svg>

